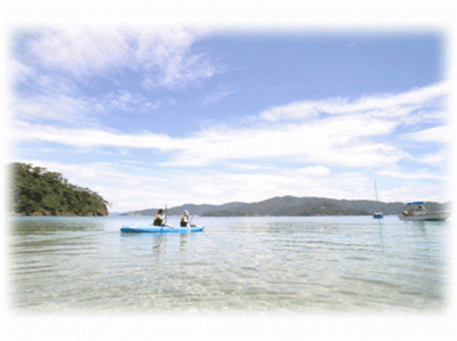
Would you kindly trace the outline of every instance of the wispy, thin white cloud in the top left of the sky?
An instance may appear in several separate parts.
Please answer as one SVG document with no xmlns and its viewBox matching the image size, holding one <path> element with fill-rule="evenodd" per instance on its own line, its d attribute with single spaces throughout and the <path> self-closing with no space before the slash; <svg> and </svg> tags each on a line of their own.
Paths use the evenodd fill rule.
<svg viewBox="0 0 457 341">
<path fill-rule="evenodd" d="M 202 54 L 192 54 L 195 33 L 185 30 L 56 31 L 44 30 L 30 40 L 30 59 L 46 69 L 81 78 L 112 69 L 131 69 L 144 76 L 143 85 L 182 87 L 220 71 Z M 22 74 L 31 71 L 22 66 Z M 20 67 L 16 67 L 20 69 Z"/>
</svg>

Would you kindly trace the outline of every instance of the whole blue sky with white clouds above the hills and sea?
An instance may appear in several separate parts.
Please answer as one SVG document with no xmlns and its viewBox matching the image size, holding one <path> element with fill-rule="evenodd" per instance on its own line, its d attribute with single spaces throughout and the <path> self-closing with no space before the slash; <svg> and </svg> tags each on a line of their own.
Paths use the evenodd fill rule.
<svg viewBox="0 0 457 341">
<path fill-rule="evenodd" d="M 437 31 L 11 32 L 10 162 L 110 211 L 275 196 L 451 199 Z"/>
</svg>

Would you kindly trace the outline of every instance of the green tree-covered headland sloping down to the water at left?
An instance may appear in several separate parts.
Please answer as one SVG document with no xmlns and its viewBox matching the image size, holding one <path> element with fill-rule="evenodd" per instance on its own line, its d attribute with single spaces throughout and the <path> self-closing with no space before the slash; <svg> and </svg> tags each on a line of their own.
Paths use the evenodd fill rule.
<svg viewBox="0 0 457 341">
<path fill-rule="evenodd" d="M 18 215 L 107 216 L 108 201 L 89 188 L 80 188 L 62 174 L 14 162 L 10 211 Z"/>
</svg>

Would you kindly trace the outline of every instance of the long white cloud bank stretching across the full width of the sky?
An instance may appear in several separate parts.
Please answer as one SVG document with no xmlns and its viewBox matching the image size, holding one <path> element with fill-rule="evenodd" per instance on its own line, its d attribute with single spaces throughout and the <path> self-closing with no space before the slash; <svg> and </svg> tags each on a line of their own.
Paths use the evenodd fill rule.
<svg viewBox="0 0 457 341">
<path fill-rule="evenodd" d="M 297 104 L 292 103 L 263 111 L 249 127 L 216 126 L 185 138 L 147 131 L 126 134 L 96 128 L 52 127 L 23 120 L 15 122 L 13 136 L 16 142 L 46 141 L 84 148 L 103 145 L 158 149 L 172 152 L 168 162 L 160 163 L 167 167 L 202 167 L 221 160 L 285 157 L 307 163 L 375 167 L 410 158 L 409 153 L 398 144 L 389 141 L 399 127 L 409 122 L 423 121 L 424 117 L 435 122 L 435 125 L 442 124 L 444 111 L 427 109 L 427 103 L 442 97 L 446 90 L 447 84 L 439 83 L 392 96 L 340 101 L 338 105 L 333 99 L 319 101 L 318 109 L 313 109 L 313 112 L 325 112 L 330 116 L 318 118 L 313 114 L 314 119 L 298 121 L 298 117 L 309 118 L 309 110 L 295 110 Z M 123 96 L 124 100 L 117 101 L 117 105 L 134 102 L 128 93 Z M 100 106 L 104 107 L 105 104 Z M 69 107 L 72 108 L 71 105 Z M 317 108 L 315 102 L 300 105 L 302 109 L 311 107 Z M 47 108 L 52 109 L 53 106 Z M 86 109 L 87 106 L 82 104 L 80 108 Z M 295 110 L 293 115 L 291 109 Z M 266 115 L 265 112 L 270 114 Z M 272 119 L 272 113 L 275 113 L 275 119 Z M 271 124 L 272 120 L 274 124 Z M 403 140 L 445 143 L 451 133 L 448 126 L 437 126 L 397 135 Z"/>
</svg>

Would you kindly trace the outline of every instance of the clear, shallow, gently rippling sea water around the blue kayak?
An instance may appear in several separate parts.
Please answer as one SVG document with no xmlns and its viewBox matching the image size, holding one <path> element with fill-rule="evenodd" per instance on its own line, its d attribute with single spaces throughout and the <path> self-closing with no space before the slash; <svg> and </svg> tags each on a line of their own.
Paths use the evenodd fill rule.
<svg viewBox="0 0 457 341">
<path fill-rule="evenodd" d="M 19 313 L 429 312 L 446 307 L 450 223 L 396 216 L 194 218 L 203 232 L 124 234 L 151 217 L 9 218 Z M 168 223 L 177 225 L 177 217 Z"/>
</svg>

